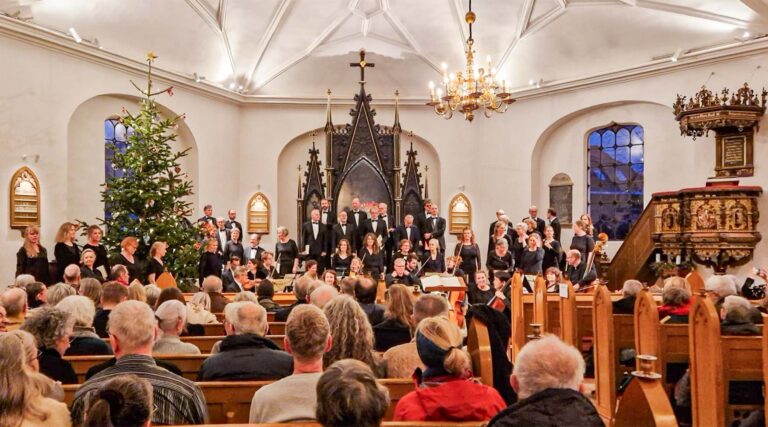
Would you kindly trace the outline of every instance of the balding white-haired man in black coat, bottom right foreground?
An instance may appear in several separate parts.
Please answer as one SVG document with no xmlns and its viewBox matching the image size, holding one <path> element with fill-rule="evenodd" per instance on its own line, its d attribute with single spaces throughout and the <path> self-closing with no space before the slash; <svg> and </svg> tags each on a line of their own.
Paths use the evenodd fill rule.
<svg viewBox="0 0 768 427">
<path fill-rule="evenodd" d="M 518 400 L 499 412 L 491 427 L 602 427 L 594 405 L 584 392 L 581 353 L 554 335 L 529 341 L 517 355 L 510 384 Z"/>
</svg>

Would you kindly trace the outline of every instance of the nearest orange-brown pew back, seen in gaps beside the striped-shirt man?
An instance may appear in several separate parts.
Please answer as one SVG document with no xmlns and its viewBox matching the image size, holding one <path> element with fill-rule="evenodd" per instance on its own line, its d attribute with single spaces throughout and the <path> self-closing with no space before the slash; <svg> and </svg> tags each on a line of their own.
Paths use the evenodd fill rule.
<svg viewBox="0 0 768 427">
<path fill-rule="evenodd" d="M 386 420 L 391 420 L 397 402 L 409 392 L 415 390 L 413 380 L 382 379 L 380 384 L 389 390 L 389 409 Z M 203 394 L 208 406 L 208 416 L 211 423 L 247 423 L 251 408 L 251 400 L 256 390 L 270 384 L 271 381 L 210 381 L 196 383 Z M 80 385 L 64 386 L 64 402 L 71 406 L 75 393 Z M 291 424 L 293 426 L 294 424 Z M 422 424 L 419 424 L 422 425 Z"/>
</svg>

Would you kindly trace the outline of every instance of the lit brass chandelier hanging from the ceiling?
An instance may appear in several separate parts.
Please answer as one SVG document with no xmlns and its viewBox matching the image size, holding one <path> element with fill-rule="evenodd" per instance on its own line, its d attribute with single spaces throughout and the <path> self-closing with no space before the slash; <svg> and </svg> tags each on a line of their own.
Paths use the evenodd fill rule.
<svg viewBox="0 0 768 427">
<path fill-rule="evenodd" d="M 427 105 L 435 109 L 435 113 L 444 119 L 453 117 L 454 111 L 464 113 L 464 119 L 472 121 L 475 110 L 483 109 L 485 117 L 490 118 L 494 112 L 504 113 L 509 104 L 515 102 L 512 94 L 507 92 L 506 81 L 499 83 L 496 70 L 491 68 L 491 57 L 488 57 L 488 68 L 475 69 L 472 38 L 472 24 L 477 16 L 472 12 L 472 0 L 469 0 L 469 11 L 464 20 L 469 25 L 469 38 L 465 48 L 466 68 L 450 75 L 448 66 L 443 63 L 443 82 L 435 88 L 434 82 L 429 82 L 429 102 Z"/>
</svg>

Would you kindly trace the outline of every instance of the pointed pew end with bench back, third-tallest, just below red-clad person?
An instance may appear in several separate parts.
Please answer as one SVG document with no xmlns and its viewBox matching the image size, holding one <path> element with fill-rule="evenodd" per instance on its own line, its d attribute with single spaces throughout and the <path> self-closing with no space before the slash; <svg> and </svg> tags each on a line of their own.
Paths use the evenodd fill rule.
<svg viewBox="0 0 768 427">
<path fill-rule="evenodd" d="M 662 320 L 653 295 L 647 289 L 640 291 L 635 302 L 635 349 L 637 354 L 657 358 L 652 369 L 661 375 L 661 384 L 666 387 L 669 364 L 688 363 L 688 324 Z"/>
</svg>

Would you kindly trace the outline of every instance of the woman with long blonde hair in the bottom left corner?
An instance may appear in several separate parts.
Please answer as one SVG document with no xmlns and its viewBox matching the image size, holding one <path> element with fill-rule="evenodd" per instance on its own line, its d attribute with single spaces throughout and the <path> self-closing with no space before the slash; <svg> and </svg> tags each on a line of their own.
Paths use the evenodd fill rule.
<svg viewBox="0 0 768 427">
<path fill-rule="evenodd" d="M 71 425 L 67 405 L 44 396 L 26 358 L 18 335 L 0 334 L 0 426 Z"/>
</svg>

